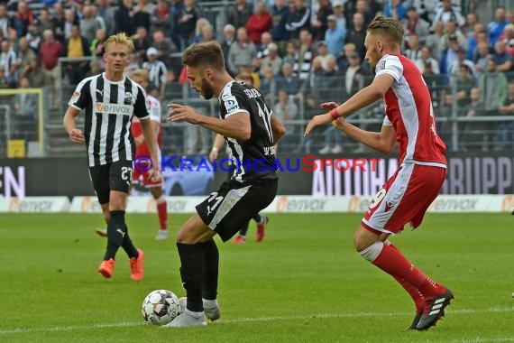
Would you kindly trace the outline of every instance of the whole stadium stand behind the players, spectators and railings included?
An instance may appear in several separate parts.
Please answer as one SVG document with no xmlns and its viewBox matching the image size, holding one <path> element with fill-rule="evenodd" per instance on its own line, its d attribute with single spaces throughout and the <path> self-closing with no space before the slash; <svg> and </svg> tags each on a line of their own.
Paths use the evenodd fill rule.
<svg viewBox="0 0 514 343">
<path fill-rule="evenodd" d="M 295 7 L 297 3 L 20 0 L 0 4 L 0 157 L 8 155 L 6 146 L 13 139 L 24 141 L 29 156 L 82 153 L 79 146 L 68 144 L 61 125 L 75 80 L 100 72 L 103 40 L 129 26 L 136 42 L 130 69 L 143 66 L 151 47 L 166 66 L 163 104 L 188 103 L 216 115 L 216 100 L 207 102 L 190 91 L 180 51 L 191 42 L 216 39 L 223 43 L 228 59 L 231 50 L 240 55 L 254 45 L 256 52 L 248 54 L 252 60 L 238 61 L 234 72 L 252 73 L 277 111 L 282 112 L 284 104 L 295 109 L 294 116 L 283 117 L 289 137 L 280 151 L 354 151 L 357 144 L 333 133 L 320 130 L 315 136 L 323 134 L 325 140 L 307 141 L 302 133 L 308 120 L 321 112 L 320 102 L 343 102 L 372 81 L 362 46 L 365 25 L 379 13 L 404 23 L 404 53 L 417 63 L 430 88 L 438 130 L 449 150 L 501 151 L 514 145 L 514 1 L 312 0 L 305 1 L 307 9 Z M 242 22 L 246 16 L 251 20 Z M 200 22 L 205 29 L 197 25 Z M 225 30 L 227 24 L 238 32 L 241 23 L 252 32 L 250 44 L 237 34 L 225 34 L 231 31 Z M 43 34 L 48 30 L 54 32 L 51 48 Z M 291 38 L 297 35 L 298 39 Z M 269 57 L 270 46 L 278 48 L 278 54 L 273 51 Z M 55 53 L 53 62 L 49 51 Z M 31 57 L 38 61 L 32 68 Z M 19 104 L 23 78 L 27 79 L 23 85 L 42 89 L 29 97 L 34 102 L 30 115 Z M 158 91 L 151 90 L 159 97 Z M 280 99 L 284 92 L 287 97 Z M 379 128 L 383 116 L 381 104 L 376 104 L 348 120 Z M 184 153 L 183 126 L 163 124 L 164 153 Z M 198 138 L 194 151 L 205 150 L 199 146 L 205 138 Z"/>
</svg>

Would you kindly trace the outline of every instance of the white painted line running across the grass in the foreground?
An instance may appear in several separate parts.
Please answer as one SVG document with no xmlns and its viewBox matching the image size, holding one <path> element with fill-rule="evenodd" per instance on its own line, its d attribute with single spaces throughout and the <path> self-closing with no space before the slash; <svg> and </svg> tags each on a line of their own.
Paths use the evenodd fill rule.
<svg viewBox="0 0 514 343">
<path fill-rule="evenodd" d="M 459 309 L 450 311 L 451 314 L 470 314 L 470 313 L 488 313 L 488 312 L 512 312 L 514 308 L 500 308 L 492 307 L 490 309 L 482 310 L 468 310 Z M 253 318 L 234 318 L 228 320 L 216 320 L 212 323 L 215 325 L 225 323 L 245 323 L 245 322 L 258 322 L 258 321 L 275 321 L 275 320 L 317 320 L 317 319 L 337 319 L 337 318 L 361 318 L 361 317 L 393 317 L 393 316 L 408 316 L 412 312 L 360 312 L 360 313 L 316 313 L 311 315 L 302 316 L 270 316 L 270 317 L 253 317 Z M 33 332 L 60 332 L 60 331 L 73 331 L 84 329 L 110 329 L 110 328 L 129 328 L 148 325 L 144 321 L 124 321 L 120 323 L 105 323 L 105 324 L 92 324 L 92 325 L 70 325 L 70 326 L 57 326 L 57 327 L 43 327 L 43 328 L 16 328 L 16 329 L 0 329 L 0 335 L 13 335 L 17 333 L 33 333 Z M 512 341 L 514 338 L 498 338 L 495 341 Z M 486 340 L 485 341 L 491 341 Z"/>
</svg>

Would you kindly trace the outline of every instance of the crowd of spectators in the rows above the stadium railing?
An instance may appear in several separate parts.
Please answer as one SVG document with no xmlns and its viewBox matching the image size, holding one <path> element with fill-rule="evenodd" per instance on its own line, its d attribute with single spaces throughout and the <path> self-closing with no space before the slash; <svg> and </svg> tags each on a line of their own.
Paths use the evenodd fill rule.
<svg viewBox="0 0 514 343">
<path fill-rule="evenodd" d="M 150 92 L 164 101 L 172 82 L 187 82 L 179 52 L 216 40 L 227 70 L 251 74 L 277 116 L 308 120 L 320 103 L 343 102 L 371 81 L 366 27 L 385 14 L 404 24 L 403 51 L 425 77 L 438 113 L 457 104 L 460 116 L 514 115 L 512 10 L 498 7 L 487 22 L 473 1 L 463 9 L 458 0 L 235 0 L 216 36 L 216 23 L 195 1 L 44 0 L 37 9 L 25 0 L 0 3 L 0 88 L 46 86 L 51 107 L 59 107 L 62 83 L 100 72 L 106 37 L 126 32 L 135 45 L 130 68 L 150 70 Z M 69 60 L 58 72 L 60 57 Z M 512 123 L 489 125 L 498 126 L 497 134 L 481 134 L 470 123 L 469 132 L 479 135 L 464 137 L 461 147 L 488 140 L 512 147 Z M 301 136 L 299 125 L 289 131 Z M 299 150 L 308 146 L 298 143 Z M 339 153 L 341 137 L 326 133 L 320 148 Z"/>
</svg>

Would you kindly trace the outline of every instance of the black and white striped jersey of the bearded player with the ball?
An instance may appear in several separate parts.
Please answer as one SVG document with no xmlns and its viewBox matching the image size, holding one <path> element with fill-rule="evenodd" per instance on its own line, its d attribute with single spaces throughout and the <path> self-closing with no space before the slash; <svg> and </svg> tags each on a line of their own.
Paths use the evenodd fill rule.
<svg viewBox="0 0 514 343">
<path fill-rule="evenodd" d="M 236 168 L 231 179 L 255 181 L 277 179 L 275 144 L 271 131 L 270 107 L 256 88 L 231 81 L 223 88 L 219 98 L 220 118 L 226 119 L 236 113 L 250 115 L 252 134 L 247 141 L 225 137 L 228 152 Z"/>
</svg>

